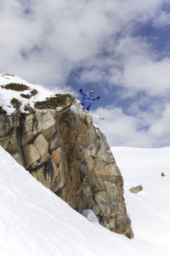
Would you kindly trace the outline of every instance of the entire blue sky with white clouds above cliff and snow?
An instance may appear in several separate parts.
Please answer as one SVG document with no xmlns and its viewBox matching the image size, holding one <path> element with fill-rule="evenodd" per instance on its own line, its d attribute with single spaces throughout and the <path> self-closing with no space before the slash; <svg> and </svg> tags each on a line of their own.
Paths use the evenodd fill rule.
<svg viewBox="0 0 170 256">
<path fill-rule="evenodd" d="M 110 146 L 170 145 L 169 0 L 1 0 L 0 73 L 75 92 Z"/>
</svg>

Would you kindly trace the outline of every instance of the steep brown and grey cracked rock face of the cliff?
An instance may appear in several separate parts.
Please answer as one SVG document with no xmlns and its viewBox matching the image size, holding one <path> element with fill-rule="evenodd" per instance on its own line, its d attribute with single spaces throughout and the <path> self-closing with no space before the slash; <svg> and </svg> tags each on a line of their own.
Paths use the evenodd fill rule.
<svg viewBox="0 0 170 256">
<path fill-rule="evenodd" d="M 91 117 L 70 108 L 0 115 L 0 144 L 19 164 L 78 212 L 93 210 L 106 228 L 133 237 L 123 179 Z"/>
</svg>

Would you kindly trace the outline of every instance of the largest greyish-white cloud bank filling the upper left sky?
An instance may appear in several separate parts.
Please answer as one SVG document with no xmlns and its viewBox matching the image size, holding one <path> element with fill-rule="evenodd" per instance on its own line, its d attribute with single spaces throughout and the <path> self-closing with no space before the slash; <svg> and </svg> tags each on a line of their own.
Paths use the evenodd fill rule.
<svg viewBox="0 0 170 256">
<path fill-rule="evenodd" d="M 1 72 L 44 84 L 63 81 L 79 65 L 96 64 L 97 55 L 114 46 L 116 33 L 130 33 L 135 21 L 154 19 L 163 2 L 3 0 Z M 40 73 L 43 81 L 38 81 Z"/>
</svg>

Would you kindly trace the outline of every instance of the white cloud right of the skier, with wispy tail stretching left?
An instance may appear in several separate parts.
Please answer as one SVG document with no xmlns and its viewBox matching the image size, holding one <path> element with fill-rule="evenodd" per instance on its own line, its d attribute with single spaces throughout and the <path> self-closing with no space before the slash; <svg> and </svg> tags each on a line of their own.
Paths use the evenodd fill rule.
<svg viewBox="0 0 170 256">
<path fill-rule="evenodd" d="M 159 57 L 151 45 L 142 38 L 124 37 L 118 41 L 109 56 L 98 58 L 91 69 L 81 73 L 79 82 L 108 82 L 108 90 L 120 86 L 125 96 L 134 96 L 140 91 L 148 96 L 168 96 L 170 93 L 170 58 Z M 87 67 L 88 67 L 87 63 Z M 90 66 L 90 64 L 89 64 Z M 122 95 L 124 96 L 124 95 Z"/>
</svg>

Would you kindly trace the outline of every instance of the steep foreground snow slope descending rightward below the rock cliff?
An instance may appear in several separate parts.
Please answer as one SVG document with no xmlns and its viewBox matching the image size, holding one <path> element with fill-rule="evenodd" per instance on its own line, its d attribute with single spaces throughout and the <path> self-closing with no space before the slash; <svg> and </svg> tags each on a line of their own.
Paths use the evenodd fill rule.
<svg viewBox="0 0 170 256">
<path fill-rule="evenodd" d="M 2 148 L 0 155 L 1 256 L 112 255 L 116 241 L 128 240 L 75 212 Z"/>
</svg>

